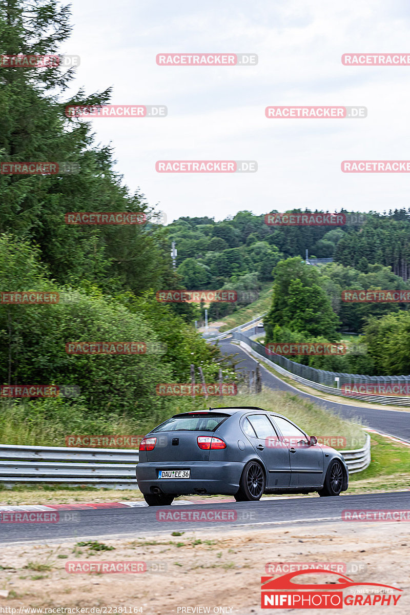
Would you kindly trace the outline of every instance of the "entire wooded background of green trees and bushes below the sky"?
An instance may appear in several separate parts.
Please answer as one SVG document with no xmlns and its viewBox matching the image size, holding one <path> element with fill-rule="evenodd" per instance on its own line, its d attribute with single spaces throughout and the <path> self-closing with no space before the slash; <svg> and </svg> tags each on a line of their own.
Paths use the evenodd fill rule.
<svg viewBox="0 0 410 615">
<path fill-rule="evenodd" d="M 71 32 L 69 19 L 69 8 L 50 0 L 1 2 L 1 53 L 57 54 Z M 23 415 L 31 417 L 26 423 L 41 414 L 50 420 L 69 416 L 79 425 L 107 416 L 154 421 L 173 407 L 154 394 L 159 381 L 189 381 L 191 364 L 202 368 L 207 381 L 218 379 L 218 348 L 194 328 L 204 306 L 160 304 L 156 292 L 167 288 L 240 292 L 237 304 L 210 305 L 210 319 L 219 319 L 273 285 L 267 341 L 336 341 L 341 331 L 353 331 L 365 335 L 369 348 L 365 357 L 295 360 L 319 367 L 340 359 L 344 371 L 362 373 L 408 370 L 407 346 L 395 352 L 393 342 L 381 342 L 392 331 L 392 339 L 407 344 L 408 306 L 344 304 L 341 292 L 409 288 L 409 211 L 369 213 L 363 224 L 337 228 L 268 226 L 264 215 L 250 211 L 222 221 L 183 217 L 163 226 L 144 195 L 124 185 L 112 148 L 95 143 L 90 122 L 66 116 L 68 105 L 105 105 L 111 97 L 109 88 L 87 93 L 85 87 L 70 96 L 74 77 L 75 69 L 63 66 L 0 71 L 0 161 L 63 161 L 79 168 L 66 175 L 0 174 L 2 292 L 71 296 L 50 306 L 0 304 L 0 381 L 81 389 L 75 399 L 22 402 Z M 144 213 L 147 221 L 68 225 L 65 214 L 73 210 Z M 176 269 L 171 242 L 178 250 Z M 311 258 L 333 263 L 304 263 L 306 249 Z M 108 337 L 148 340 L 167 350 L 138 357 L 65 352 L 67 343 Z M 222 365 L 223 376 L 233 378 Z M 2 403 L 7 416 L 18 415 L 20 402 Z"/>
</svg>

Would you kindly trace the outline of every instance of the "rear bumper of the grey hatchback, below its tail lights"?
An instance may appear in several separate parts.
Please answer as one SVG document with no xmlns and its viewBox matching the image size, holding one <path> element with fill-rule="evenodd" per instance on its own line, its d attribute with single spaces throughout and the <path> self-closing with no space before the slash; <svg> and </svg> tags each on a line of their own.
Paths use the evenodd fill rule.
<svg viewBox="0 0 410 615">
<path fill-rule="evenodd" d="M 191 470 L 190 478 L 157 478 L 158 470 Z M 176 461 L 141 462 L 136 466 L 136 480 L 142 493 L 188 495 L 208 493 L 234 495 L 239 490 L 242 462 Z"/>
</svg>

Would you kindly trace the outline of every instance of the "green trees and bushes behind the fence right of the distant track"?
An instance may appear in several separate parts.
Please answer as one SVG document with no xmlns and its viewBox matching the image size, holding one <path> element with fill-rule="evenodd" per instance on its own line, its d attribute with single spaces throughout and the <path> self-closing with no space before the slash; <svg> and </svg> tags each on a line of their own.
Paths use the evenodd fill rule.
<svg viewBox="0 0 410 615">
<path fill-rule="evenodd" d="M 310 367 L 369 376 L 409 373 L 409 304 L 342 301 L 347 289 L 410 289 L 410 282 L 395 276 L 390 267 L 369 264 L 367 269 L 363 273 L 339 263 L 315 267 L 300 258 L 278 263 L 272 306 L 264 317 L 266 342 L 338 342 L 345 332 L 360 334 L 358 344 L 367 349 L 364 354 L 288 358 Z"/>
</svg>

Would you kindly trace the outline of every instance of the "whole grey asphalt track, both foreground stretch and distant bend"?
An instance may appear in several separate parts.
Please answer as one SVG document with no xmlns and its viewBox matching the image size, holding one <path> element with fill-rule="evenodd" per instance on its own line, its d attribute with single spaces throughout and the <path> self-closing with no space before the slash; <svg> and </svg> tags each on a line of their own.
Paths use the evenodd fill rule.
<svg viewBox="0 0 410 615">
<path fill-rule="evenodd" d="M 223 340 L 219 347 L 224 354 L 240 355 L 243 362 L 240 369 L 254 370 L 256 360 L 251 358 L 239 346 Z M 263 363 L 261 363 L 263 368 Z M 263 383 L 274 390 L 296 392 L 293 387 L 283 383 L 272 373 L 263 368 Z M 314 395 L 297 392 L 301 397 L 331 408 L 341 416 L 360 416 L 364 424 L 384 434 L 393 435 L 410 443 L 410 413 L 392 410 L 373 410 L 358 408 L 341 403 L 320 400 Z M 178 502 L 178 501 L 177 501 Z M 106 509 L 76 509 L 77 520 L 68 510 L 60 511 L 58 523 L 0 523 L 0 544 L 6 542 L 39 541 L 50 542 L 61 539 L 95 539 L 97 537 L 116 538 L 131 536 L 138 538 L 143 534 L 165 533 L 172 531 L 205 530 L 212 528 L 232 529 L 245 527 L 274 527 L 292 523 L 332 523 L 342 520 L 342 510 L 407 510 L 410 509 L 410 490 L 393 493 L 374 493 L 349 495 L 342 494 L 336 498 L 302 497 L 302 498 L 264 498 L 259 502 L 215 502 L 199 501 L 197 504 L 179 504 L 166 507 L 126 507 Z M 180 520 L 180 514 L 194 510 L 209 512 L 226 511 L 228 520 L 201 520 L 200 522 Z M 157 514 L 173 512 L 178 520 L 163 521 Z M 232 514 L 232 511 L 234 513 Z M 187 519 L 187 517 L 186 517 Z"/>
</svg>

